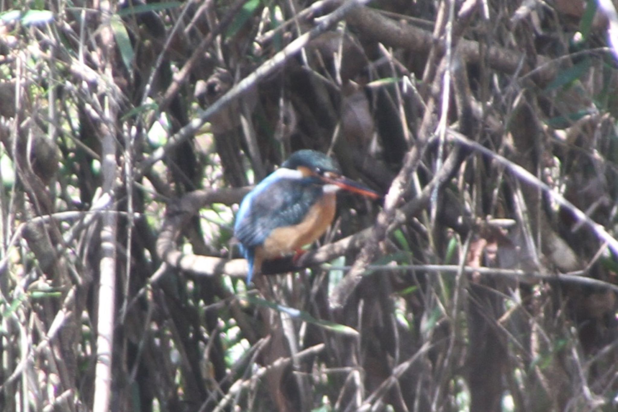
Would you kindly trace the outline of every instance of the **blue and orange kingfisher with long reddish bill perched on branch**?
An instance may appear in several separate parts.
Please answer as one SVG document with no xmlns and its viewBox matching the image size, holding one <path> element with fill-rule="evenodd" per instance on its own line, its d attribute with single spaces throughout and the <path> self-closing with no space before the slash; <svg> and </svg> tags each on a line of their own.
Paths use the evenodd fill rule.
<svg viewBox="0 0 618 412">
<path fill-rule="evenodd" d="M 337 163 L 315 150 L 292 154 L 240 203 L 234 235 L 247 259 L 247 284 L 259 274 L 263 261 L 290 252 L 319 238 L 335 216 L 340 189 L 379 198 L 375 191 L 342 176 Z"/>
</svg>

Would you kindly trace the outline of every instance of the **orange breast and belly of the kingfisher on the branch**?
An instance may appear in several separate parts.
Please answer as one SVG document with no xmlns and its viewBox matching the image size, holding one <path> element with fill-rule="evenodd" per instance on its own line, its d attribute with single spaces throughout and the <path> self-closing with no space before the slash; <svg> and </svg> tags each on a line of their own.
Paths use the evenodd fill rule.
<svg viewBox="0 0 618 412">
<path fill-rule="evenodd" d="M 277 227 L 261 246 L 263 258 L 273 259 L 284 253 L 296 251 L 314 242 L 326 232 L 335 217 L 337 198 L 325 193 L 307 213 L 302 222 L 292 226 Z"/>
</svg>

